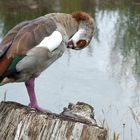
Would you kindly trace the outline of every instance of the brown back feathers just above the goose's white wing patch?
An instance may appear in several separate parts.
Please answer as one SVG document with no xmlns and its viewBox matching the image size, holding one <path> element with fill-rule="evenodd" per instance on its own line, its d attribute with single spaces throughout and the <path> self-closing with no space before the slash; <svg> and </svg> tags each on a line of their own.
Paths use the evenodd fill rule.
<svg viewBox="0 0 140 140">
<path fill-rule="evenodd" d="M 33 20 L 18 32 L 12 46 L 7 51 L 7 56 L 14 58 L 17 55 L 26 55 L 27 51 L 36 47 L 44 37 L 49 36 L 55 30 L 56 24 L 50 19 L 40 17 Z"/>
</svg>

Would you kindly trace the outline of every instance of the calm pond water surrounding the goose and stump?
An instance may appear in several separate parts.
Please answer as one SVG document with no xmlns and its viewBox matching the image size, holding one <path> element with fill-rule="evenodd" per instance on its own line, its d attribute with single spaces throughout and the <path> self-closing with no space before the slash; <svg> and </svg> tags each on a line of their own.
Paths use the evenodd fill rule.
<svg viewBox="0 0 140 140">
<path fill-rule="evenodd" d="M 96 36 L 82 51 L 68 50 L 36 80 L 40 106 L 61 112 L 69 102 L 83 101 L 95 108 L 98 122 L 107 121 L 109 139 L 113 132 L 124 140 L 140 139 L 140 4 L 138 1 L 71 0 L 53 3 L 0 0 L 2 36 L 22 20 L 50 12 L 84 10 L 96 21 Z M 18 8 L 20 7 L 20 8 Z M 24 83 L 1 87 L 0 100 L 27 105 Z M 132 109 L 132 110 L 131 110 Z M 132 115 L 133 114 L 133 115 Z M 125 124 L 125 125 L 123 125 Z"/>
</svg>

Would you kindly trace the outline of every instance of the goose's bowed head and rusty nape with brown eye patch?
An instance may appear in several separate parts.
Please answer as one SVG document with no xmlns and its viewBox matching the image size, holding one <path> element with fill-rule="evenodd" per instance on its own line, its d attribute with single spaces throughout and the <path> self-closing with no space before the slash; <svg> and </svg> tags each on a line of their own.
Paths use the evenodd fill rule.
<svg viewBox="0 0 140 140">
<path fill-rule="evenodd" d="M 85 12 L 77 12 L 72 14 L 73 18 L 78 22 L 77 32 L 69 39 L 67 48 L 81 50 L 88 46 L 95 30 L 95 23 L 91 16 Z"/>
</svg>

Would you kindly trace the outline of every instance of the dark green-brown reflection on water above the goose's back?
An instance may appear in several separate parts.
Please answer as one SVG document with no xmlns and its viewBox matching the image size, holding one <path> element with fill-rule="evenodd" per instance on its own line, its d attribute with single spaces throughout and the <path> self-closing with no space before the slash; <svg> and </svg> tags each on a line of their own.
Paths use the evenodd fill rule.
<svg viewBox="0 0 140 140">
<path fill-rule="evenodd" d="M 33 19 L 50 12 L 95 11 L 93 0 L 0 0 L 0 17 L 4 23 L 3 34 L 23 20 Z"/>
</svg>

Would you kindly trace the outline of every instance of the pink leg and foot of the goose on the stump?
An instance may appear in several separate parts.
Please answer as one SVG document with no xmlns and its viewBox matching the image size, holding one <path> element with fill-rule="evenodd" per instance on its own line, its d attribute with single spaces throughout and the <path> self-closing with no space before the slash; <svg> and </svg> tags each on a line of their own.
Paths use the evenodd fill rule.
<svg viewBox="0 0 140 140">
<path fill-rule="evenodd" d="M 42 109 L 41 107 L 39 107 L 38 104 L 37 104 L 37 99 L 36 99 L 36 95 L 35 95 L 35 91 L 34 91 L 34 86 L 35 86 L 34 82 L 35 82 L 35 78 L 32 78 L 32 79 L 27 80 L 25 82 L 25 86 L 27 88 L 28 95 L 29 95 L 29 98 L 30 98 L 29 106 L 31 108 L 35 108 L 35 109 L 37 109 L 39 111 L 48 112 L 47 110 Z"/>
</svg>

